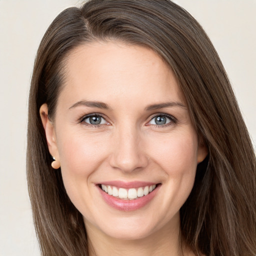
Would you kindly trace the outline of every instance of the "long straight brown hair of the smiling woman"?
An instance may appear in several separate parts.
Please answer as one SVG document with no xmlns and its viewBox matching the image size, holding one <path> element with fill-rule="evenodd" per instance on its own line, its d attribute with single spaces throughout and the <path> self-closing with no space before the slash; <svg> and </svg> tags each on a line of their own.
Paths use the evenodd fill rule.
<svg viewBox="0 0 256 256">
<path fill-rule="evenodd" d="M 256 255 L 255 155 L 221 61 L 198 22 L 169 0 L 89 0 L 62 11 L 37 51 L 31 79 L 27 180 L 42 255 L 87 255 L 83 219 L 51 168 L 39 108 L 54 119 L 65 59 L 76 46 L 119 40 L 153 49 L 172 69 L 208 147 L 180 209 L 182 242 L 195 254 Z"/>
</svg>

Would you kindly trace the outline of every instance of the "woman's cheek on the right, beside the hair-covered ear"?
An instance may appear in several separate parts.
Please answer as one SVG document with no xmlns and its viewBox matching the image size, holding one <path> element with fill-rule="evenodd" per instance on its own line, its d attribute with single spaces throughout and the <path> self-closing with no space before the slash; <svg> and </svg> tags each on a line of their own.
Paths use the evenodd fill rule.
<svg viewBox="0 0 256 256">
<path fill-rule="evenodd" d="M 162 140 L 163 141 L 163 140 Z M 197 136 L 193 132 L 173 134 L 154 150 L 153 161 L 165 174 L 162 207 L 166 219 L 178 212 L 194 184 L 197 166 Z M 171 205 L 171 206 L 170 206 Z"/>
</svg>

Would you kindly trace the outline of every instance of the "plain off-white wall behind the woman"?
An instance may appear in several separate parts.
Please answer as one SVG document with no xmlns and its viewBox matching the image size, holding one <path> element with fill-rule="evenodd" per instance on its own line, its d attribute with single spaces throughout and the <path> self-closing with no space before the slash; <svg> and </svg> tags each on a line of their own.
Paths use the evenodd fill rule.
<svg viewBox="0 0 256 256">
<path fill-rule="evenodd" d="M 0 0 L 0 255 L 38 256 L 25 174 L 27 98 L 39 42 L 81 0 Z M 176 0 L 203 26 L 256 141 L 256 0 Z"/>
</svg>

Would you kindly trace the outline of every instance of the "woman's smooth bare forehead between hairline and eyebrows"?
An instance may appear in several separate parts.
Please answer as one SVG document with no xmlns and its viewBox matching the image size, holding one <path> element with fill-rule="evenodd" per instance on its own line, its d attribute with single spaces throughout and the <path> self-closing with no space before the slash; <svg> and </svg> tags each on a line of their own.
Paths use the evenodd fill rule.
<svg viewBox="0 0 256 256">
<path fill-rule="evenodd" d="M 65 101 L 133 98 L 185 103 L 171 69 L 148 47 L 92 42 L 76 47 L 65 61 Z M 119 102 L 120 103 L 120 102 Z M 148 103 L 148 102 L 146 102 Z"/>
</svg>

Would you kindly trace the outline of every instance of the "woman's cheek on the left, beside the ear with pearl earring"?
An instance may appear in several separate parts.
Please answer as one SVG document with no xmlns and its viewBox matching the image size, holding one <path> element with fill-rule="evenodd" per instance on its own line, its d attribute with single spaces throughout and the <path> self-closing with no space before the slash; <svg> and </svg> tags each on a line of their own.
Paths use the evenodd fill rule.
<svg viewBox="0 0 256 256">
<path fill-rule="evenodd" d="M 99 136 L 68 130 L 63 130 L 58 135 L 61 175 L 65 190 L 76 208 L 84 212 L 83 205 L 91 204 L 91 201 L 88 201 L 92 196 L 90 181 L 106 156 L 107 143 L 102 143 L 104 139 L 99 139 Z M 83 196 L 85 194 L 90 196 Z"/>
</svg>

